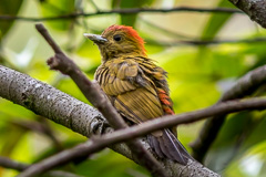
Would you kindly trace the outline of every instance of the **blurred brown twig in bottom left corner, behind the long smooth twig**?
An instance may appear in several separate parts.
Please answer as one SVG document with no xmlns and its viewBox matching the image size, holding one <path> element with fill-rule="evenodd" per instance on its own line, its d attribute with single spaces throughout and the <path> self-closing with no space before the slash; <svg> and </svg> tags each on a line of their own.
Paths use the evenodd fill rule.
<svg viewBox="0 0 266 177">
<path fill-rule="evenodd" d="M 30 165 L 12 160 L 8 157 L 0 156 L 0 166 L 4 167 L 4 168 L 10 168 L 10 169 L 16 169 L 16 170 L 21 171 L 21 170 L 24 170 L 25 168 L 28 168 Z M 62 177 L 62 176 L 63 177 L 84 177 L 84 176 L 75 175 L 75 174 L 72 174 L 69 171 L 63 171 L 63 170 L 51 170 L 44 175 L 47 177 Z"/>
</svg>

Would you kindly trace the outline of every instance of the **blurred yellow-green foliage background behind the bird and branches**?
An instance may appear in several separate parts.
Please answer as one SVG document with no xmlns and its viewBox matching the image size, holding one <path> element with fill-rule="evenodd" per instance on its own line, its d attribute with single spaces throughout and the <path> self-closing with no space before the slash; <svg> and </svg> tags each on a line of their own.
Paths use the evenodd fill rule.
<svg viewBox="0 0 266 177">
<path fill-rule="evenodd" d="M 0 14 L 21 17 L 58 17 L 76 12 L 126 8 L 234 8 L 228 1 L 213 0 L 16 0 L 1 1 Z M 265 37 L 265 31 L 244 14 L 232 13 L 137 13 L 101 14 L 88 18 L 45 21 L 53 38 L 82 67 L 90 79 L 101 62 L 96 45 L 82 37 L 83 32 L 101 33 L 119 23 L 133 25 L 140 34 L 156 43 L 146 43 L 149 56 L 168 72 L 171 97 L 176 113 L 209 106 L 242 75 L 266 63 L 266 42 L 217 45 L 163 45 L 163 42 L 204 39 L 252 39 Z M 88 103 L 75 84 L 65 76 L 50 71 L 45 60 L 52 51 L 34 30 L 34 22 L 0 21 L 0 64 L 7 65 Z M 255 94 L 264 95 L 265 87 Z M 263 177 L 266 171 L 265 112 L 243 112 L 227 117 L 217 139 L 207 154 L 205 165 L 223 176 Z M 23 163 L 41 160 L 59 150 L 50 136 L 24 126 L 40 117 L 21 106 L 0 98 L 0 155 Z M 42 122 L 40 122 L 43 124 Z M 61 125 L 48 125 L 63 148 L 85 140 Z M 181 142 L 190 150 L 202 122 L 180 126 Z M 82 163 L 63 167 L 90 177 L 145 177 L 149 173 L 125 157 L 105 149 Z M 0 176 L 12 177 L 16 170 L 0 168 Z"/>
</svg>

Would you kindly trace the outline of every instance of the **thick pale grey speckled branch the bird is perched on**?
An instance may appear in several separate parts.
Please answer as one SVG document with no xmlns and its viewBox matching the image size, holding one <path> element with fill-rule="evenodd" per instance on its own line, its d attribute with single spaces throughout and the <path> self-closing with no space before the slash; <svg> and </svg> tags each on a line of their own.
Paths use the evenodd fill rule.
<svg viewBox="0 0 266 177">
<path fill-rule="evenodd" d="M 30 76 L 0 65 L 0 96 L 14 102 L 35 114 L 71 128 L 90 137 L 95 132 L 108 133 L 110 128 L 102 128 L 104 117 L 92 106 L 84 104 L 57 88 Z M 150 149 L 146 140 L 142 142 Z M 110 146 L 115 152 L 139 163 L 124 144 Z M 164 170 L 170 177 L 204 174 L 204 176 L 218 176 L 201 164 L 194 163 L 182 166 L 168 159 L 161 159 Z"/>
</svg>

